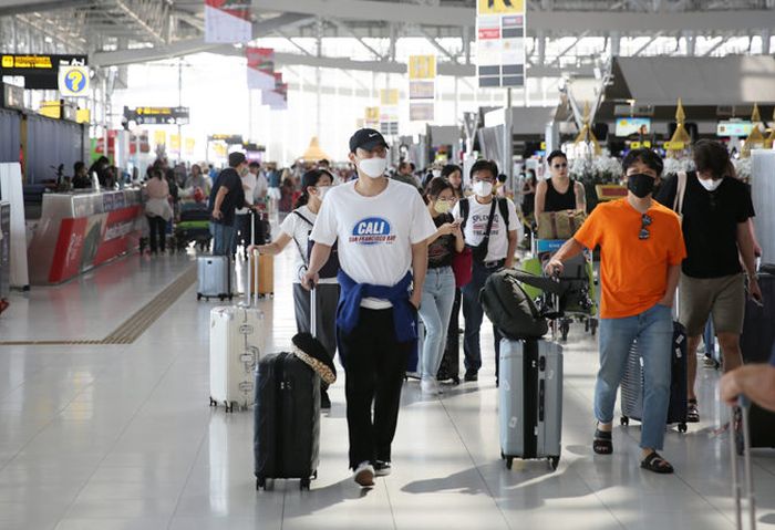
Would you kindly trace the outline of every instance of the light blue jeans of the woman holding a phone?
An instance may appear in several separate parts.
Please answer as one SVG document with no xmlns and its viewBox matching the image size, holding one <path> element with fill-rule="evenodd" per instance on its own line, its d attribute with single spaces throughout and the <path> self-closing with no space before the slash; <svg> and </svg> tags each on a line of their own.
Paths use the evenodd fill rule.
<svg viewBox="0 0 775 530">
<path fill-rule="evenodd" d="M 452 267 L 428 269 L 420 303 L 420 318 L 425 324 L 425 342 L 420 361 L 423 378 L 435 378 L 442 364 L 454 302 L 455 274 Z"/>
</svg>

